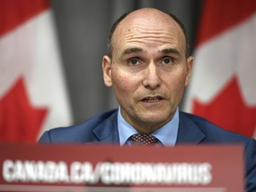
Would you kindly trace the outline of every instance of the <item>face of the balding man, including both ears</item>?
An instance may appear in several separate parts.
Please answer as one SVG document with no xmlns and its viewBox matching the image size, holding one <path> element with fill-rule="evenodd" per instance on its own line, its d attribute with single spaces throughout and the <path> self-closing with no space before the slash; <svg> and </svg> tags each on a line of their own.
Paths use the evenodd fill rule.
<svg viewBox="0 0 256 192">
<path fill-rule="evenodd" d="M 150 133 L 172 119 L 189 82 L 192 58 L 187 62 L 185 36 L 168 15 L 140 15 L 128 15 L 116 28 L 112 59 L 105 56 L 102 67 L 124 119 Z"/>
</svg>

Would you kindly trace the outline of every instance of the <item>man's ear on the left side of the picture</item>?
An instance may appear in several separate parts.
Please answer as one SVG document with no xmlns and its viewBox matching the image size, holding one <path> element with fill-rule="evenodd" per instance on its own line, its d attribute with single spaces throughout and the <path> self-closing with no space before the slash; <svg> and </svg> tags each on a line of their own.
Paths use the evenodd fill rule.
<svg viewBox="0 0 256 192">
<path fill-rule="evenodd" d="M 102 59 L 103 79 L 106 86 L 112 86 L 111 59 L 105 55 Z"/>
</svg>

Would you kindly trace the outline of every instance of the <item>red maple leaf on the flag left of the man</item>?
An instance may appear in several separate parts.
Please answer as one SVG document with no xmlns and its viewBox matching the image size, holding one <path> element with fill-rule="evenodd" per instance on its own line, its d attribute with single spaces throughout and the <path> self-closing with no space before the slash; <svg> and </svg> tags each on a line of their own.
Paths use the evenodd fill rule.
<svg viewBox="0 0 256 192">
<path fill-rule="evenodd" d="M 25 90 L 20 78 L 0 100 L 0 141 L 36 142 L 47 109 L 31 106 Z"/>
</svg>

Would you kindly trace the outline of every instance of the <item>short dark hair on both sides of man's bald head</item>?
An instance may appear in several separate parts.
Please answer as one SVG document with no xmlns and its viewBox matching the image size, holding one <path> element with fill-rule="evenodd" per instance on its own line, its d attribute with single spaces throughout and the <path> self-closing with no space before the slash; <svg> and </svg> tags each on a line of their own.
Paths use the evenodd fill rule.
<svg viewBox="0 0 256 192">
<path fill-rule="evenodd" d="M 118 26 L 118 24 L 124 20 L 124 18 L 129 15 L 132 11 L 130 12 L 125 12 L 121 17 L 119 17 L 116 22 L 112 25 L 112 27 L 110 28 L 110 32 L 109 32 L 109 35 L 108 35 L 108 57 L 112 58 L 112 52 L 113 52 L 113 46 L 112 46 L 112 37 L 113 37 L 113 34 Z M 189 56 L 189 39 L 188 39 L 188 33 L 187 33 L 187 30 L 184 26 L 184 24 L 179 20 L 178 17 L 176 17 L 172 12 L 165 12 L 166 14 L 168 14 L 173 20 L 175 20 L 178 25 L 180 26 L 180 28 L 182 29 L 182 32 L 185 36 L 185 43 L 186 43 L 186 58 L 188 58 Z"/>
</svg>

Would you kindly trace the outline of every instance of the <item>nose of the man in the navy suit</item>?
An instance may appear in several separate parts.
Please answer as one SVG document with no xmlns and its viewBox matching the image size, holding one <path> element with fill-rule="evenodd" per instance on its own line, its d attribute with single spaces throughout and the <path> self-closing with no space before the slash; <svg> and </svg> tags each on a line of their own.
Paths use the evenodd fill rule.
<svg viewBox="0 0 256 192">
<path fill-rule="evenodd" d="M 159 69 L 154 62 L 148 64 L 148 68 L 145 69 L 145 77 L 143 79 L 144 87 L 154 90 L 161 84 L 161 78 Z"/>
</svg>

